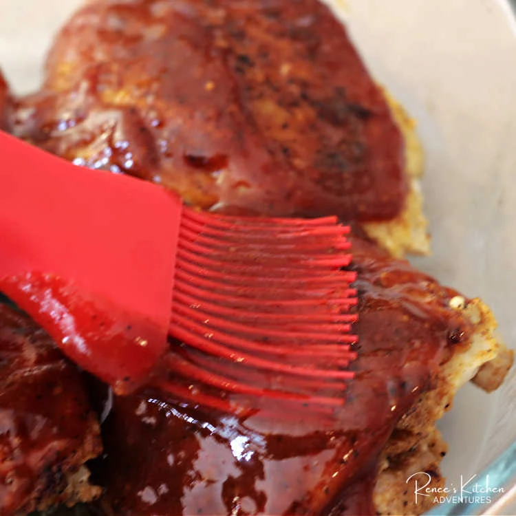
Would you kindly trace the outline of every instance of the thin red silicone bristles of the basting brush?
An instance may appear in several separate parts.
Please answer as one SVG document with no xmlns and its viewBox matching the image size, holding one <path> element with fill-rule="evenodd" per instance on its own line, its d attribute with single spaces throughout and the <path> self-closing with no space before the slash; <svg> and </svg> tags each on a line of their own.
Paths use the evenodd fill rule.
<svg viewBox="0 0 516 516">
<path fill-rule="evenodd" d="M 350 228 L 185 208 L 166 361 L 169 393 L 236 410 L 238 396 L 337 407 L 353 378 Z M 228 400 L 233 400 L 229 402 Z"/>
</svg>

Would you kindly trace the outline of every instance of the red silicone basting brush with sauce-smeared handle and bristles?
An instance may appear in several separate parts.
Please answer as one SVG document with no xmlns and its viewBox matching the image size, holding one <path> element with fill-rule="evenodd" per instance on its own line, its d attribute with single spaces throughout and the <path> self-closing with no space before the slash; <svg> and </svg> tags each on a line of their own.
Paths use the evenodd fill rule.
<svg viewBox="0 0 516 516">
<path fill-rule="evenodd" d="M 201 213 L 5 133 L 0 159 L 0 291 L 118 394 L 158 363 L 160 387 L 215 407 L 219 390 L 341 403 L 356 292 L 334 217 Z"/>
</svg>

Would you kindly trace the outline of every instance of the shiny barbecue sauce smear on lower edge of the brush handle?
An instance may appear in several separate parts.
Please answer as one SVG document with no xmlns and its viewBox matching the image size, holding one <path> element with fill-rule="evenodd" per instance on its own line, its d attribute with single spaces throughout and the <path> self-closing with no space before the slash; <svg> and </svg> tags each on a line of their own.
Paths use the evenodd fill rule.
<svg viewBox="0 0 516 516">
<path fill-rule="evenodd" d="M 0 292 L 44 327 L 70 360 L 117 394 L 146 383 L 164 348 L 166 328 L 69 279 L 41 272 L 3 277 Z"/>
</svg>

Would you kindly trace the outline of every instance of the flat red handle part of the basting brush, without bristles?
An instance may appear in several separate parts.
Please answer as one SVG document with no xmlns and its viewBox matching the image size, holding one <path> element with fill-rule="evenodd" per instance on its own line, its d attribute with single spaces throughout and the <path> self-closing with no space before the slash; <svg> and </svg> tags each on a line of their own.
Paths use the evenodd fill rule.
<svg viewBox="0 0 516 516">
<path fill-rule="evenodd" d="M 0 290 L 120 390 L 166 346 L 181 213 L 159 186 L 0 133 Z"/>
</svg>

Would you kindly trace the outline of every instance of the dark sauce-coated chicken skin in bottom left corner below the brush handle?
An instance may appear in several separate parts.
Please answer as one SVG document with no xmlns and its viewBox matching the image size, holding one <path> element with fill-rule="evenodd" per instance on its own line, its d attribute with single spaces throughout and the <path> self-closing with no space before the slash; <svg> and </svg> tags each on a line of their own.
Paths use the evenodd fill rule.
<svg viewBox="0 0 516 516">
<path fill-rule="evenodd" d="M 101 450 L 78 369 L 27 316 L 0 305 L 0 514 L 98 496 L 81 466 Z"/>
</svg>

